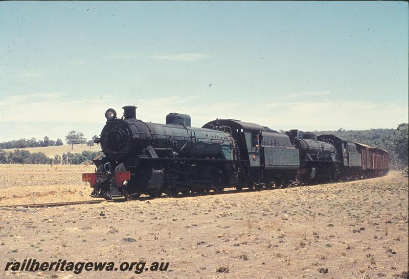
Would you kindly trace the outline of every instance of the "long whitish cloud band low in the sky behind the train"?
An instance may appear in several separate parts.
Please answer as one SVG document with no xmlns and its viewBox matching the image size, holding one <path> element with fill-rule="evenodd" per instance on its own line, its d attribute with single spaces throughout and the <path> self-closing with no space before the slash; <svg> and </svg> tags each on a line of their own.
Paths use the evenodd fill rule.
<svg viewBox="0 0 409 279">
<path fill-rule="evenodd" d="M 70 122 L 74 127 L 87 122 L 90 129 L 100 131 L 105 122 L 103 113 L 107 108 L 115 108 L 120 117 L 121 107 L 128 104 L 138 106 L 137 117 L 143 121 L 165 123 L 165 117 L 169 112 L 180 112 L 191 115 L 194 127 L 200 127 L 216 118 L 233 118 L 269 126 L 274 130 L 297 128 L 314 131 L 335 130 L 339 127 L 361 130 L 395 128 L 399 123 L 406 122 L 408 117 L 407 107 L 395 103 L 385 105 L 375 102 L 351 103 L 322 99 L 317 102 L 282 100 L 275 104 L 244 104 L 213 102 L 201 100 L 200 95 L 180 94 L 163 98 L 127 99 L 126 102 L 102 97 L 95 102 L 99 96 L 70 99 L 64 95 L 62 92 L 36 92 L 6 96 L 0 100 L 0 122 L 36 123 L 32 125 L 33 131 L 30 132 L 33 135 L 38 130 L 35 127 L 40 125 L 39 123 L 50 121 L 61 125 Z M 154 109 L 152 104 L 155 104 Z M 10 108 L 13 108 L 12 113 Z M 54 131 L 53 126 L 45 130 L 48 124 L 43 125 L 44 133 Z"/>
</svg>

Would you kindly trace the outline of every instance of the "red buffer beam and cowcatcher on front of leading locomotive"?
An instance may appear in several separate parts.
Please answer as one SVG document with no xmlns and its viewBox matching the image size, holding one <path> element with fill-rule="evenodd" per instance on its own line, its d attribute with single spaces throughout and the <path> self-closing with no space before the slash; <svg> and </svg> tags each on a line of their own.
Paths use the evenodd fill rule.
<svg viewBox="0 0 409 279">
<path fill-rule="evenodd" d="M 115 196 L 122 196 L 122 185 L 125 181 L 130 180 L 129 171 L 114 173 L 94 172 L 83 173 L 82 181 L 89 182 L 94 191 L 92 197 L 103 197 L 110 199 Z"/>
</svg>

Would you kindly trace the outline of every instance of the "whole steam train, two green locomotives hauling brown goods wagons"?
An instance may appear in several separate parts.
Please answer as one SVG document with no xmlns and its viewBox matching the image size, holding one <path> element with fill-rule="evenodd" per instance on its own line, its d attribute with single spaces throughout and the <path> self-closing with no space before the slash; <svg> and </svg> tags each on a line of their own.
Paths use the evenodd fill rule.
<svg viewBox="0 0 409 279">
<path fill-rule="evenodd" d="M 287 187 L 370 177 L 389 170 L 389 154 L 380 148 L 349 142 L 334 135 L 317 137 L 298 130 L 285 134 L 235 119 L 216 119 L 191 127 L 186 114 L 170 113 L 166 124 L 144 122 L 135 106 L 113 109 L 100 143 L 105 157 L 94 160 L 95 173 L 83 173 L 92 197 L 141 194 L 169 196 L 223 191 L 235 187 Z"/>
</svg>

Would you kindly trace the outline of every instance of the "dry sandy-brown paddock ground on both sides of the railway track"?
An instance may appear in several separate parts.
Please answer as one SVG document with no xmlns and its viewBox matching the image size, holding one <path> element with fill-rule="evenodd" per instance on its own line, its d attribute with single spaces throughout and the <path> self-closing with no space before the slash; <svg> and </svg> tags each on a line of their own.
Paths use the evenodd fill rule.
<svg viewBox="0 0 409 279">
<path fill-rule="evenodd" d="M 19 190 L 27 196 L 44 191 L 42 202 L 86 199 L 90 192 L 80 169 L 58 176 L 58 171 L 36 171 L 28 172 L 33 181 L 40 180 L 36 187 L 8 182 L 9 188 L 0 189 L 0 203 L 27 201 Z M 6 172 L 0 171 L 2 180 Z M 50 175 L 69 181 L 52 183 Z M 19 195 L 14 201 L 11 190 Z M 83 270 L 80 275 L 87 278 L 406 278 L 407 241 L 408 181 L 391 172 L 365 181 L 289 189 L 0 209 L 0 277 L 78 276 L 72 271 L 4 271 L 9 261 L 33 258 L 170 263 L 167 271 L 139 275 Z"/>
</svg>

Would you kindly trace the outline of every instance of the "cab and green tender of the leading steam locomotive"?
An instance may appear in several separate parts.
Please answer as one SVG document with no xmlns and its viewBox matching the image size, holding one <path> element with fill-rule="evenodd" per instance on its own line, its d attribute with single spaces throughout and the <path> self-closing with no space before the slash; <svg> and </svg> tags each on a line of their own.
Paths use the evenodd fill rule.
<svg viewBox="0 0 409 279">
<path fill-rule="evenodd" d="M 248 173 L 241 177 L 238 187 L 251 184 L 260 187 L 266 184 L 288 185 L 295 180 L 299 168 L 298 149 L 287 135 L 280 134 L 255 123 L 236 119 L 216 119 L 203 128 L 227 129 L 231 131 L 238 149 L 240 169 Z M 244 182 L 248 180 L 248 182 Z M 250 187 L 250 188 L 251 188 Z"/>
</svg>

